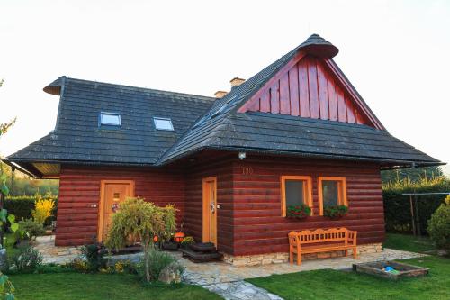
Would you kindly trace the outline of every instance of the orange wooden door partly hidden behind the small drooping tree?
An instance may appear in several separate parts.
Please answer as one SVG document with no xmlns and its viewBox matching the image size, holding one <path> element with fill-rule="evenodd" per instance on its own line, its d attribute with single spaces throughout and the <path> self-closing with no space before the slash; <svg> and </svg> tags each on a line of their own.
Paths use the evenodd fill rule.
<svg viewBox="0 0 450 300">
<path fill-rule="evenodd" d="M 102 180 L 101 186 L 98 241 L 105 241 L 112 214 L 119 209 L 121 201 L 134 195 L 134 182 L 132 180 Z"/>
</svg>

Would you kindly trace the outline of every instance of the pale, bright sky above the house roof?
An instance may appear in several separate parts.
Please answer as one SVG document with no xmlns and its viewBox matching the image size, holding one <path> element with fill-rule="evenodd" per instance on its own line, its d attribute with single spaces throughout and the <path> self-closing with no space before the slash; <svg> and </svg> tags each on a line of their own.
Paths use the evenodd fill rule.
<svg viewBox="0 0 450 300">
<path fill-rule="evenodd" d="M 450 162 L 450 1 L 0 0 L 0 139 L 54 129 L 60 76 L 197 95 L 229 90 L 312 33 L 389 132 Z M 450 174 L 450 168 L 445 167 Z"/>
</svg>

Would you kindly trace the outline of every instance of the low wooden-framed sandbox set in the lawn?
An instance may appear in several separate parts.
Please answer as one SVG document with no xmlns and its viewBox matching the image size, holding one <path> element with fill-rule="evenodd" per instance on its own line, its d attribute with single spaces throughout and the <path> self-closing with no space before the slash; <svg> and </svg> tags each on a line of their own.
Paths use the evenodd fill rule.
<svg viewBox="0 0 450 300">
<path fill-rule="evenodd" d="M 386 266 L 399 271 L 398 274 L 383 271 Z M 395 261 L 375 261 L 362 264 L 353 264 L 353 270 L 359 273 L 371 274 L 378 277 L 397 280 L 401 277 L 419 277 L 428 274 L 428 268 L 416 267 Z"/>
</svg>

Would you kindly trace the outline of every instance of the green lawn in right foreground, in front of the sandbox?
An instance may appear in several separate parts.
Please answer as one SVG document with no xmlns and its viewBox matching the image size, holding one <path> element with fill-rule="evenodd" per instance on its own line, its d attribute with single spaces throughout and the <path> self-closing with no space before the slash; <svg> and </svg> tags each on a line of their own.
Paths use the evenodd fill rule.
<svg viewBox="0 0 450 300">
<path fill-rule="evenodd" d="M 427 277 L 404 278 L 394 282 L 365 274 L 324 269 L 252 278 L 247 281 L 286 300 L 450 299 L 450 259 L 429 256 L 403 261 L 430 268 L 430 274 Z"/>
</svg>

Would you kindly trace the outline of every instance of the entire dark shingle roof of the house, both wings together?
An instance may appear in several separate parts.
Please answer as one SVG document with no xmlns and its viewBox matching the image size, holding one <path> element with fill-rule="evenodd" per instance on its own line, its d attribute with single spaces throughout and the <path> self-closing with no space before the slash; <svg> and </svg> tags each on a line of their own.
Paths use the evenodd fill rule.
<svg viewBox="0 0 450 300">
<path fill-rule="evenodd" d="M 44 88 L 50 94 L 62 93 L 55 131 L 9 159 L 165 165 L 199 150 L 219 149 L 367 159 L 391 165 L 440 164 L 389 132 L 366 125 L 283 114 L 237 113 L 238 107 L 293 59 L 298 50 L 328 58 L 338 53 L 335 46 L 313 34 L 217 100 L 58 78 Z M 362 98 L 361 102 L 365 105 Z M 370 112 L 367 106 L 365 109 Z M 121 129 L 99 128 L 101 111 L 121 113 Z M 171 118 L 175 132 L 155 130 L 154 116 Z"/>
</svg>

